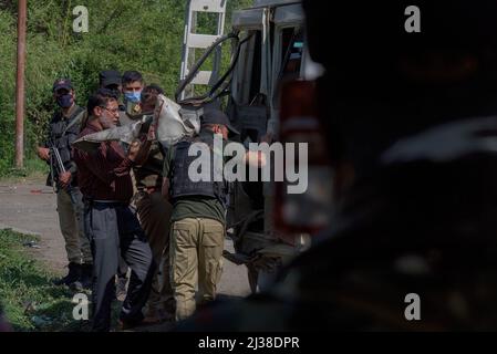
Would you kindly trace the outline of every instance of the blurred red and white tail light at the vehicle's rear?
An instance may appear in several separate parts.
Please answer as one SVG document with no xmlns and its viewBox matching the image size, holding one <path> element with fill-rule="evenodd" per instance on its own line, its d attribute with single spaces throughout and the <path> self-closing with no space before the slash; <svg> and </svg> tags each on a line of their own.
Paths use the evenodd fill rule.
<svg viewBox="0 0 497 354">
<path fill-rule="evenodd" d="M 296 154 L 286 153 L 287 164 L 299 166 L 298 147 L 307 144 L 307 190 L 289 194 L 292 184 L 286 179 L 276 184 L 275 227 L 278 233 L 292 241 L 297 235 L 314 235 L 328 225 L 332 205 L 332 170 L 328 158 L 325 133 L 317 107 L 315 83 L 292 81 L 282 86 L 280 101 L 280 139 L 284 145 L 294 143 Z M 306 171 L 300 171 L 303 175 Z"/>
</svg>

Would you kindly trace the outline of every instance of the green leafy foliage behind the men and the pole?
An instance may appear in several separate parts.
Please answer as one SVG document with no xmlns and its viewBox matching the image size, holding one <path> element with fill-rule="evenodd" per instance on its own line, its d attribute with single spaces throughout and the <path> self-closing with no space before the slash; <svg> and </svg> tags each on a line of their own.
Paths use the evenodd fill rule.
<svg viewBox="0 0 497 354">
<path fill-rule="evenodd" d="M 228 0 L 226 28 L 234 9 L 251 0 Z M 97 86 L 105 69 L 141 71 L 173 97 L 179 77 L 186 0 L 37 0 L 28 1 L 24 149 L 35 159 L 54 110 L 56 77 L 72 80 L 77 103 Z M 89 9 L 89 33 L 72 30 L 75 6 Z M 199 30 L 210 25 L 199 21 Z M 0 2 L 0 176 L 13 165 L 17 1 Z"/>
</svg>

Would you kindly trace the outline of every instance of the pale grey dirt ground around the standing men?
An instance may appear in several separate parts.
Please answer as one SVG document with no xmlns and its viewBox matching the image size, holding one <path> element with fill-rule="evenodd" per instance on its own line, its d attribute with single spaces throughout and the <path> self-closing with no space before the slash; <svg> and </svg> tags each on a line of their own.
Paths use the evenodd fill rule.
<svg viewBox="0 0 497 354">
<path fill-rule="evenodd" d="M 63 274 L 68 260 L 55 209 L 55 195 L 51 187 L 44 186 L 44 179 L 0 180 L 0 229 L 39 235 L 41 241 L 30 250 L 48 268 Z M 226 240 L 225 248 L 232 251 L 230 240 Z M 249 292 L 245 266 L 225 259 L 219 294 L 239 298 Z"/>
</svg>

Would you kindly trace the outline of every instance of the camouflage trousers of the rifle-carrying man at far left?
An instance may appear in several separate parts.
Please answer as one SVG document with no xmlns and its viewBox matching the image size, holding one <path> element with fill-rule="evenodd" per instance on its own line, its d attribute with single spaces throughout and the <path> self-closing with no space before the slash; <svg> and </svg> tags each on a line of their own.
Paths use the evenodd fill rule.
<svg viewBox="0 0 497 354">
<path fill-rule="evenodd" d="M 77 264 L 82 262 L 91 264 L 93 263 L 92 250 L 84 232 L 83 197 L 79 188 L 72 187 L 71 192 L 73 200 L 64 189 L 56 192 L 56 211 L 61 232 L 65 240 L 68 260 Z"/>
</svg>

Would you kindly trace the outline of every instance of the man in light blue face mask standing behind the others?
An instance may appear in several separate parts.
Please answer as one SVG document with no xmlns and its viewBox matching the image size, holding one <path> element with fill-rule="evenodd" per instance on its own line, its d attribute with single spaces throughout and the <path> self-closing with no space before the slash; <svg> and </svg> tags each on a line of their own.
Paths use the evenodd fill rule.
<svg viewBox="0 0 497 354">
<path fill-rule="evenodd" d="M 124 72 L 121 81 L 125 110 L 124 112 L 120 112 L 120 124 L 127 125 L 133 123 L 142 113 L 139 101 L 145 82 L 142 74 L 137 71 Z"/>
</svg>

